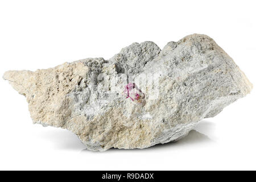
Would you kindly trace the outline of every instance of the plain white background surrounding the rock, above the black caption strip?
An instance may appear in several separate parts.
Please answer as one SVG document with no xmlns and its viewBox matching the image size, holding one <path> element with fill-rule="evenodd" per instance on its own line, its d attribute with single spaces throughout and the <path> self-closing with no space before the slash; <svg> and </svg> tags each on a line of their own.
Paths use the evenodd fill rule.
<svg viewBox="0 0 256 182">
<path fill-rule="evenodd" d="M 255 85 L 255 7 L 245 0 L 0 0 L 0 74 L 109 59 L 133 42 L 163 48 L 197 33 L 212 37 Z M 93 152 L 67 130 L 32 125 L 25 97 L 0 84 L 0 169 L 256 169 L 255 88 L 179 142 Z"/>
</svg>

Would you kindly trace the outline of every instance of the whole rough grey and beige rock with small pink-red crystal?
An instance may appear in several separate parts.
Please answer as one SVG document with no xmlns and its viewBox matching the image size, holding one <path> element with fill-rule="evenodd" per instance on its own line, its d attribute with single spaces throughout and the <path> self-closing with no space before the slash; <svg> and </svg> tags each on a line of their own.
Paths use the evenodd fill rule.
<svg viewBox="0 0 256 182">
<path fill-rule="evenodd" d="M 252 89 L 243 72 L 206 35 L 133 43 L 109 60 L 8 71 L 34 123 L 75 133 L 88 150 L 146 148 L 178 140 Z"/>
</svg>

